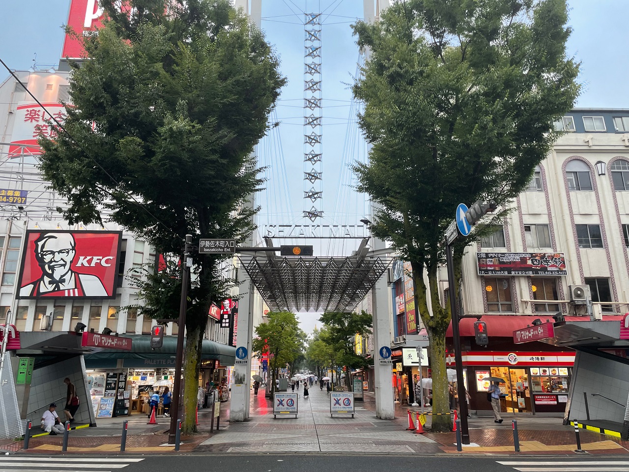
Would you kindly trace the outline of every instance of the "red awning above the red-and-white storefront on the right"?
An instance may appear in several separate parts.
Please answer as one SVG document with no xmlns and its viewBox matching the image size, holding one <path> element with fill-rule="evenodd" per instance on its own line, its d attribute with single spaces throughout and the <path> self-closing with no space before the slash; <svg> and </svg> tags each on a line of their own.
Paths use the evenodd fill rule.
<svg viewBox="0 0 629 472">
<path fill-rule="evenodd" d="M 603 321 L 622 320 L 625 315 L 603 315 Z M 518 329 L 526 328 L 526 325 L 533 325 L 533 320 L 554 321 L 550 315 L 484 315 L 481 321 L 487 323 L 487 334 L 490 337 L 510 337 L 513 338 L 513 332 Z M 584 317 L 565 317 L 566 321 L 590 321 L 587 316 Z M 463 318 L 459 322 L 459 332 L 461 336 L 474 336 L 474 323 L 476 318 Z M 448 326 L 446 337 L 452 337 L 452 322 Z"/>
</svg>

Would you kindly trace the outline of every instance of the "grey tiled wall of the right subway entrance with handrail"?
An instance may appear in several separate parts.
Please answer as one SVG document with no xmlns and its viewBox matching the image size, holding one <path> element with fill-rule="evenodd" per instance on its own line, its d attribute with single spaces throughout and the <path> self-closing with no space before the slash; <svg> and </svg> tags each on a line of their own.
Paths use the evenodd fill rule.
<svg viewBox="0 0 629 472">
<path fill-rule="evenodd" d="M 591 394 L 600 393 L 626 405 L 629 395 L 629 366 L 586 352 L 579 352 L 579 357 L 579 369 L 572 379 L 574 394 L 569 419 L 587 419 L 583 398 L 583 392 L 586 392 L 591 420 L 623 422 L 625 407 Z"/>
</svg>

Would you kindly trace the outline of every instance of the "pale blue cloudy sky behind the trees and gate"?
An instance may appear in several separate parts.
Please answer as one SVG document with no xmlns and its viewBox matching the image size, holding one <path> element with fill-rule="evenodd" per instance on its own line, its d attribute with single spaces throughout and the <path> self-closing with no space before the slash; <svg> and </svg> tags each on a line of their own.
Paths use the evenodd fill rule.
<svg viewBox="0 0 629 472">
<path fill-rule="evenodd" d="M 12 69 L 57 65 L 67 21 L 69 0 L 5 0 L 0 5 L 0 57 Z M 569 24 L 573 28 L 568 52 L 582 62 L 580 81 L 584 84 L 577 106 L 581 108 L 629 108 L 626 93 L 628 61 L 624 48 L 628 43 L 627 0 L 571 0 Z M 362 16 L 360 0 L 263 0 L 262 28 L 282 60 L 282 73 L 288 84 L 277 107 L 277 131 L 262 143 L 264 164 L 274 164 L 267 174 L 269 191 L 260 195 L 262 219 L 270 223 L 301 223 L 303 202 L 303 11 L 323 15 L 323 210 L 325 223 L 356 224 L 364 216 L 364 198 L 353 197 L 349 203 L 345 171 L 349 160 L 364 159 L 364 144 L 355 127 L 348 127 L 351 93 L 348 83 L 356 71 L 359 57 L 353 43 L 350 24 Z M 0 78 L 8 76 L 0 70 Z M 286 171 L 281 166 L 283 150 Z M 345 152 L 343 152 L 345 149 Z M 273 157 L 270 157 L 273 156 Z M 288 200 L 284 183 L 290 191 Z M 403 183 L 401 183 L 403 184 Z M 340 191 L 339 191 L 340 189 Z M 345 195 L 342 210 L 337 195 Z M 335 206 L 336 203 L 336 206 Z M 292 210 L 292 215 L 286 215 Z M 342 211 L 346 213 L 341 215 Z M 335 213 L 337 212 L 337 213 Z M 347 252 L 346 247 L 337 250 Z M 323 249 L 325 251 L 325 249 Z M 301 315 L 303 329 L 310 332 L 318 315 Z"/>
</svg>

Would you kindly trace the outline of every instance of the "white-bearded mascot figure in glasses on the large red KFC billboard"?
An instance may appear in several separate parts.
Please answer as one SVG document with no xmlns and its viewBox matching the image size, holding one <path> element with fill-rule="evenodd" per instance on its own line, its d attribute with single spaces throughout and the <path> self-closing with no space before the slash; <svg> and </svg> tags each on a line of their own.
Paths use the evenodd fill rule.
<svg viewBox="0 0 629 472">
<path fill-rule="evenodd" d="M 35 259 L 42 276 L 19 289 L 20 296 L 107 296 L 99 278 L 72 270 L 76 242 L 70 233 L 42 233 L 35 240 Z"/>
</svg>

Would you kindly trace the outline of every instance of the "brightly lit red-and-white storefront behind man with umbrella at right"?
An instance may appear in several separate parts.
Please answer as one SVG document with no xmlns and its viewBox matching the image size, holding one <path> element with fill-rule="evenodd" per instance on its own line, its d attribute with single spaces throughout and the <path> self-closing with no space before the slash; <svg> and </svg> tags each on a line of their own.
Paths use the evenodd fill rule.
<svg viewBox="0 0 629 472">
<path fill-rule="evenodd" d="M 462 353 L 464 381 L 471 410 L 491 410 L 487 402 L 489 376 L 500 383 L 501 407 L 508 413 L 563 413 L 568 401 L 574 352 L 467 351 Z M 454 369 L 454 355 L 446 358 Z M 470 385 L 469 379 L 474 379 Z"/>
</svg>

